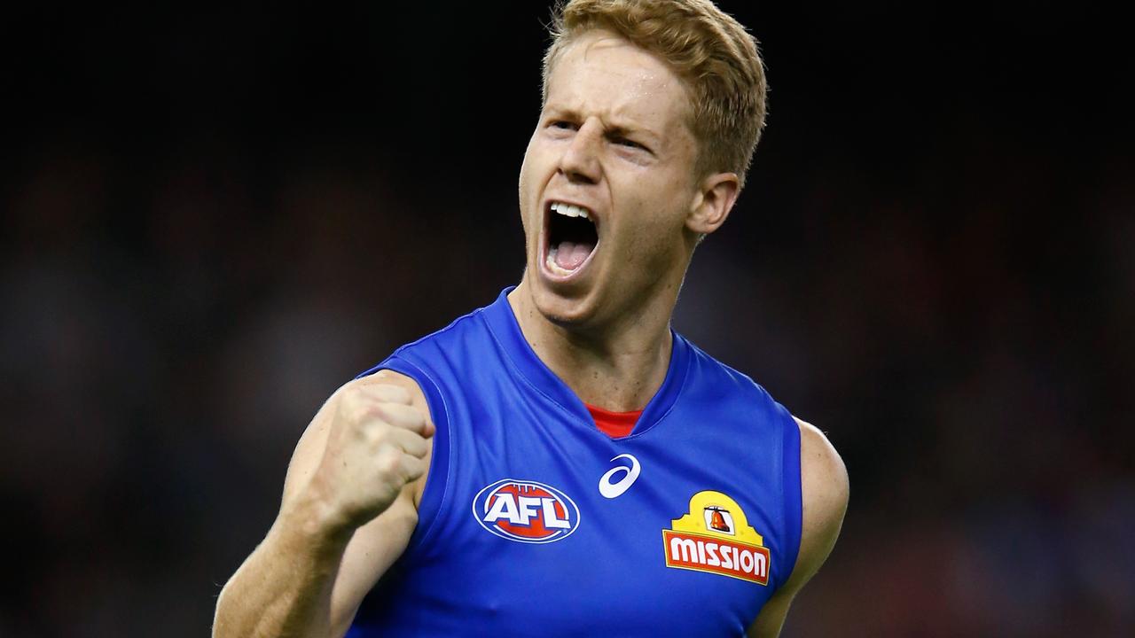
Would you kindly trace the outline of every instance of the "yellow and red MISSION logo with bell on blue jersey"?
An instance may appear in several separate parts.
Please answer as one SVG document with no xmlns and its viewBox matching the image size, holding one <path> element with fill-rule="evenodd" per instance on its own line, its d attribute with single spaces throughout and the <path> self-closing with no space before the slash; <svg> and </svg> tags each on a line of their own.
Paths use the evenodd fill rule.
<svg viewBox="0 0 1135 638">
<path fill-rule="evenodd" d="M 741 506 L 720 492 L 699 492 L 690 511 L 662 530 L 666 566 L 717 573 L 768 585 L 765 539 L 749 527 Z"/>
</svg>

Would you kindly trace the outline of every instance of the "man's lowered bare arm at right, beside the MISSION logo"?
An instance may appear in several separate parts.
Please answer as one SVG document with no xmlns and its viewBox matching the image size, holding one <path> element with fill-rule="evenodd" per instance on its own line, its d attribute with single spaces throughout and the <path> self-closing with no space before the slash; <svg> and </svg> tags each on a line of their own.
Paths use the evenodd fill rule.
<svg viewBox="0 0 1135 638">
<path fill-rule="evenodd" d="M 814 426 L 797 419 L 800 427 L 800 492 L 804 521 L 800 553 L 792 576 L 765 603 L 749 627 L 750 638 L 776 638 L 796 594 L 827 560 L 843 524 L 848 507 L 848 473 L 843 460 Z"/>
</svg>

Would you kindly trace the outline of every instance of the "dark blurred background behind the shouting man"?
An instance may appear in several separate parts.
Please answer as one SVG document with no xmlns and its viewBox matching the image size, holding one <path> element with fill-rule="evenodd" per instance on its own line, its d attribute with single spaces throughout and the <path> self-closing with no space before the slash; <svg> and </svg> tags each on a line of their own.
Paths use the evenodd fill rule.
<svg viewBox="0 0 1135 638">
<path fill-rule="evenodd" d="M 784 636 L 1135 633 L 1123 20 L 784 5 L 675 317 L 847 461 Z M 207 635 L 321 401 L 519 280 L 545 7 L 5 10 L 0 636 Z"/>
</svg>

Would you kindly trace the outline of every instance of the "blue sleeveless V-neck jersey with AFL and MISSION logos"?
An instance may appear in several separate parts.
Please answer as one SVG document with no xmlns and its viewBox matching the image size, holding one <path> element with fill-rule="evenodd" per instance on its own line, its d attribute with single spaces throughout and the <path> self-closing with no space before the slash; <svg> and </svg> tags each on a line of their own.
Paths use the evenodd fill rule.
<svg viewBox="0 0 1135 638">
<path fill-rule="evenodd" d="M 800 438 L 676 333 L 630 436 L 599 431 L 505 295 L 398 349 L 437 426 L 419 522 L 370 636 L 742 636 L 800 544 Z"/>
</svg>

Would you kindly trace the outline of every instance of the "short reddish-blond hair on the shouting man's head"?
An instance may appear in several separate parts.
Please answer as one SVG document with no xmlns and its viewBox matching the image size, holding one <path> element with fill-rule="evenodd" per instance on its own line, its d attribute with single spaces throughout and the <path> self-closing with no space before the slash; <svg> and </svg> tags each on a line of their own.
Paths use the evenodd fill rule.
<svg viewBox="0 0 1135 638">
<path fill-rule="evenodd" d="M 611 31 L 674 69 L 690 91 L 698 175 L 732 171 L 743 185 L 767 110 L 765 68 L 749 32 L 709 0 L 561 0 L 548 27 L 544 100 L 557 57 L 592 30 Z"/>
</svg>

